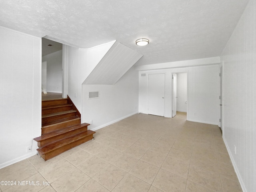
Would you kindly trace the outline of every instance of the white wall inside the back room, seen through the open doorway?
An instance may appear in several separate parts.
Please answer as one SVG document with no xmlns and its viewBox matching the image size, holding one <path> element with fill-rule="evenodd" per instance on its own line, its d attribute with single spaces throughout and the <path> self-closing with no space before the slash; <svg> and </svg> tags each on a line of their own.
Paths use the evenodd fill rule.
<svg viewBox="0 0 256 192">
<path fill-rule="evenodd" d="M 187 112 L 187 74 L 177 74 L 177 111 Z"/>
</svg>

